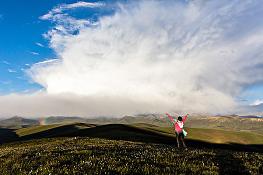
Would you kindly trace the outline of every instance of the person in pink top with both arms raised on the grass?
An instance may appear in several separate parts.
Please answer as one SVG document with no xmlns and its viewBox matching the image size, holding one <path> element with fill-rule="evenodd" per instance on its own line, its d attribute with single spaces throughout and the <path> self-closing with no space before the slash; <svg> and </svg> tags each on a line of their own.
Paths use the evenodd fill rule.
<svg viewBox="0 0 263 175">
<path fill-rule="evenodd" d="M 175 124 L 175 137 L 176 137 L 178 149 L 181 149 L 182 147 L 184 149 L 187 149 L 185 141 L 184 141 L 184 133 L 183 132 L 185 132 L 185 131 L 183 130 L 183 125 L 184 125 L 184 121 L 185 121 L 185 119 L 189 113 L 187 115 L 185 115 L 184 118 L 182 118 L 181 116 L 178 116 L 177 120 L 174 119 L 173 117 L 171 117 L 168 113 L 165 113 L 165 114 L 168 115 Z"/>
</svg>

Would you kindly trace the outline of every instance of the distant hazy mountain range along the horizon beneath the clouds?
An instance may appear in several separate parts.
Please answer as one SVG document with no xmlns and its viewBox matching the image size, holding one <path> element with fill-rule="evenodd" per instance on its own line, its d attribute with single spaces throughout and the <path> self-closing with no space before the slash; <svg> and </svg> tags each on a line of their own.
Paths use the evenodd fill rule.
<svg viewBox="0 0 263 175">
<path fill-rule="evenodd" d="M 177 118 L 177 117 L 174 117 Z M 92 124 L 133 124 L 140 126 L 143 123 L 150 127 L 167 127 L 173 126 L 173 122 L 166 115 L 145 115 L 145 116 L 123 116 L 112 119 L 87 119 L 77 116 L 50 116 L 45 118 L 45 124 L 53 123 L 72 123 L 83 122 Z M 0 120 L 0 128 L 23 128 L 41 125 L 39 120 L 26 119 L 20 116 L 13 116 L 9 119 Z M 195 128 L 213 128 L 233 131 L 248 131 L 263 134 L 263 118 L 255 115 L 227 115 L 211 116 L 211 114 L 190 113 L 185 121 L 186 127 Z"/>
</svg>

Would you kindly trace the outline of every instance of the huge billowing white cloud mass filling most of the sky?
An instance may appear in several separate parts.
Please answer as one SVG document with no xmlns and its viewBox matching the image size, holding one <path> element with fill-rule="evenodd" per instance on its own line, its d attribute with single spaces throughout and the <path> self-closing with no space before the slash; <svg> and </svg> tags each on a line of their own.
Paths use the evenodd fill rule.
<svg viewBox="0 0 263 175">
<path fill-rule="evenodd" d="M 46 89 L 13 96 L 34 108 L 30 115 L 234 112 L 241 90 L 263 81 L 258 1 L 139 0 L 117 3 L 99 21 L 66 13 L 86 3 L 41 17 L 56 23 L 45 37 L 60 60 L 27 70 Z M 25 105 L 16 108 L 24 115 Z"/>
</svg>

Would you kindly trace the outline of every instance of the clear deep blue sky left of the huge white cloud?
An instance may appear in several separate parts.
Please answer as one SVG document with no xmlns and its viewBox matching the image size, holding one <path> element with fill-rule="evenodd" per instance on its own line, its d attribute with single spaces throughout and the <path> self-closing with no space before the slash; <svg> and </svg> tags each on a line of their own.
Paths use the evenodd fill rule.
<svg viewBox="0 0 263 175">
<path fill-rule="evenodd" d="M 52 23 L 41 20 L 40 16 L 47 14 L 58 4 L 76 2 L 76 0 L 1 1 L 0 95 L 14 92 L 33 93 L 43 88 L 23 71 L 33 63 L 57 57 L 54 50 L 49 47 L 49 40 L 43 37 L 43 34 L 52 27 Z M 73 11 L 74 16 L 81 18 L 91 17 L 93 12 L 85 8 Z"/>
</svg>

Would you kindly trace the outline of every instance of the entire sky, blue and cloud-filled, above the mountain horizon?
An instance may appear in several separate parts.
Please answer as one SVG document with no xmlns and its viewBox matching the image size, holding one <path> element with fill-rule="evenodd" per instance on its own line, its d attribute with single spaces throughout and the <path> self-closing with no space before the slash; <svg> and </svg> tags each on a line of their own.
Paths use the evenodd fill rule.
<svg viewBox="0 0 263 175">
<path fill-rule="evenodd" d="M 0 117 L 263 115 L 260 0 L 0 2 Z"/>
</svg>

